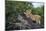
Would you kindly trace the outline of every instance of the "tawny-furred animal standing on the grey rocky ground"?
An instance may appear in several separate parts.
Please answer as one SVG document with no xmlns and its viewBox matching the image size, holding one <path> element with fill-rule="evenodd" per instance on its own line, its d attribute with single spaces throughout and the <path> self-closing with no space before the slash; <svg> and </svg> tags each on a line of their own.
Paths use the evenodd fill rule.
<svg viewBox="0 0 46 31">
<path fill-rule="evenodd" d="M 37 24 L 40 24 L 40 20 L 41 20 L 41 16 L 40 15 L 33 15 L 31 13 L 31 11 L 26 11 L 24 12 L 24 14 L 26 14 L 27 17 L 30 17 L 32 19 L 32 21 L 36 21 Z"/>
</svg>

